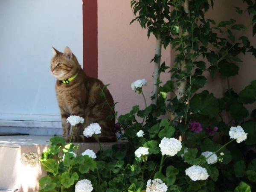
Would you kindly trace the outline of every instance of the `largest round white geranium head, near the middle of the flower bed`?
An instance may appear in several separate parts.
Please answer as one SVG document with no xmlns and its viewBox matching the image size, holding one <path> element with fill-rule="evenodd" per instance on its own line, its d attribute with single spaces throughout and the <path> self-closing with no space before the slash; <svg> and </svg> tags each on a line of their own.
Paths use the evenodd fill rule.
<svg viewBox="0 0 256 192">
<path fill-rule="evenodd" d="M 182 148 L 181 142 L 175 138 L 164 137 L 159 144 L 162 155 L 175 156 Z"/>
</svg>

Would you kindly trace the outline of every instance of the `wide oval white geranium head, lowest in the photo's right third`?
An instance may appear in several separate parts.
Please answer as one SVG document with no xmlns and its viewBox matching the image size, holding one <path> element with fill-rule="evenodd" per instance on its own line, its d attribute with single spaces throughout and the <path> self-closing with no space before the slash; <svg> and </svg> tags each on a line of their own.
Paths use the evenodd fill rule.
<svg viewBox="0 0 256 192">
<path fill-rule="evenodd" d="M 201 166 L 192 166 L 186 169 L 186 175 L 190 177 L 191 180 L 207 180 L 209 177 L 207 170 Z"/>
</svg>

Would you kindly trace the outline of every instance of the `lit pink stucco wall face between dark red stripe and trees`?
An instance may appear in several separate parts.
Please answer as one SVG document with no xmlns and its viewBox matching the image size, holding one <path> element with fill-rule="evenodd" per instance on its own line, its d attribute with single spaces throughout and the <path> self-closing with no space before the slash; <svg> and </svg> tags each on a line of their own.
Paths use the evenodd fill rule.
<svg viewBox="0 0 256 192">
<path fill-rule="evenodd" d="M 133 105 L 143 107 L 143 97 L 131 90 L 131 82 L 146 79 L 144 93 L 150 102 L 153 87 L 155 38 L 147 37 L 147 30 L 135 22 L 129 0 L 98 0 L 98 77 L 109 89 L 119 114 Z M 163 61 L 170 65 L 170 48 L 162 49 Z M 170 74 L 161 76 L 163 82 Z"/>
</svg>

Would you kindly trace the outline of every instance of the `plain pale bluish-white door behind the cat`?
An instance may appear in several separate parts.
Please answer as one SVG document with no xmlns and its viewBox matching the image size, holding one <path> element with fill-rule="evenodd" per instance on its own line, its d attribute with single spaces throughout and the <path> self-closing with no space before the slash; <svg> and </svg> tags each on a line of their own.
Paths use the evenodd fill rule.
<svg viewBox="0 0 256 192">
<path fill-rule="evenodd" d="M 82 0 L 0 0 L 0 120 L 60 121 L 51 47 L 82 38 Z"/>
</svg>

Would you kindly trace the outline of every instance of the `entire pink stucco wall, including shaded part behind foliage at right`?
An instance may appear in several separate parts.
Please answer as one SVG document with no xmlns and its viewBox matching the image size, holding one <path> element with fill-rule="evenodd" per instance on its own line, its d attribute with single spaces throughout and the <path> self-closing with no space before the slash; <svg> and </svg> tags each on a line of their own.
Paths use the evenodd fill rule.
<svg viewBox="0 0 256 192">
<path fill-rule="evenodd" d="M 233 8 L 235 6 L 245 7 L 241 0 L 215 0 L 215 7 L 209 10 L 207 17 L 214 18 L 217 22 L 234 18 L 247 26 L 251 18 L 237 15 Z M 146 29 L 142 29 L 137 22 L 129 25 L 133 18 L 129 0 L 98 0 L 98 76 L 105 84 L 111 84 L 109 89 L 115 102 L 119 102 L 116 106 L 119 114 L 130 111 L 133 105 L 143 106 L 143 98 L 133 93 L 131 82 L 143 78 L 148 81 L 148 86 L 143 89 L 148 102 L 153 86 L 154 64 L 150 60 L 154 57 L 155 38 L 151 36 L 148 39 Z M 236 34 L 241 34 L 241 31 Z M 255 46 L 252 29 L 248 29 L 244 35 L 248 35 Z M 163 49 L 162 55 L 162 61 L 166 61 L 166 65 L 173 64 L 174 52 L 170 47 Z M 244 61 L 238 64 L 239 75 L 230 78 L 231 86 L 238 92 L 256 79 L 255 58 L 250 53 L 239 57 Z M 161 76 L 163 82 L 169 79 L 170 74 Z M 227 89 L 227 80 L 219 75 L 214 81 L 210 78 L 208 80 L 206 88 L 215 96 L 221 97 Z M 254 108 L 256 104 L 248 106 L 249 111 Z"/>
</svg>

